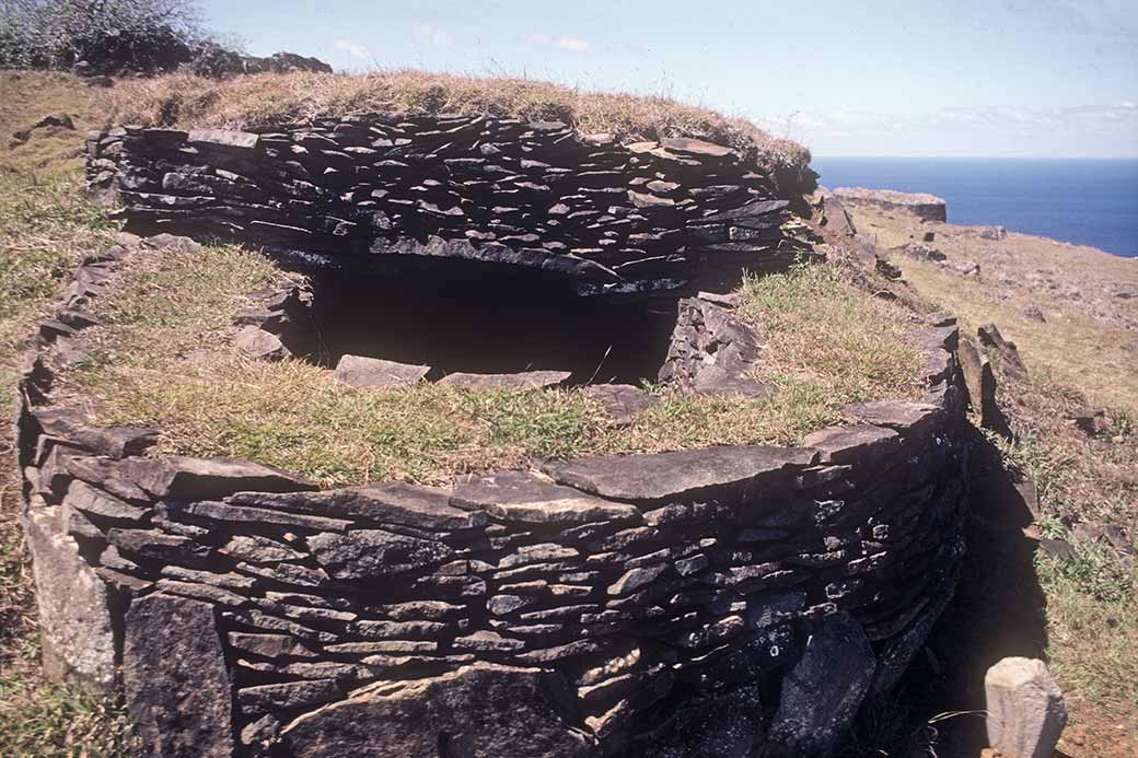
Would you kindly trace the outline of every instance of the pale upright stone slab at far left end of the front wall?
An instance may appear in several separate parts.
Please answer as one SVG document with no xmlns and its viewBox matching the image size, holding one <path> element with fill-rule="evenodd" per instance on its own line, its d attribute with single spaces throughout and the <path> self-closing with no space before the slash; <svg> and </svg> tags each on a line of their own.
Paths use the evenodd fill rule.
<svg viewBox="0 0 1138 758">
<path fill-rule="evenodd" d="M 38 506 L 24 518 L 35 576 L 43 672 L 56 682 L 79 682 L 109 692 L 115 682 L 115 635 L 107 586 L 59 528 L 57 508 Z"/>
</svg>

